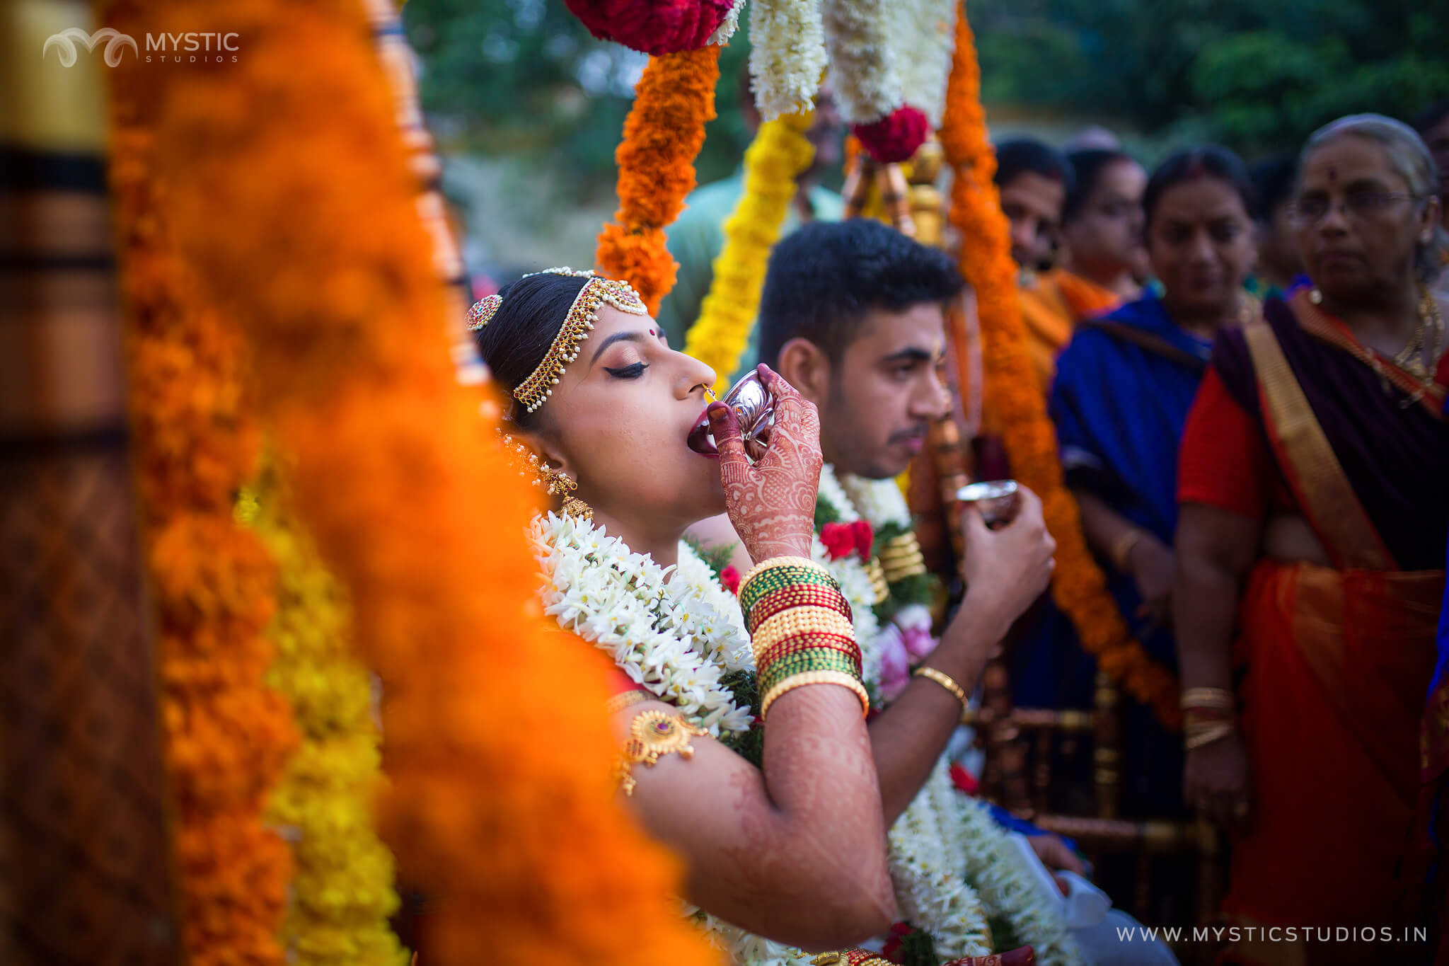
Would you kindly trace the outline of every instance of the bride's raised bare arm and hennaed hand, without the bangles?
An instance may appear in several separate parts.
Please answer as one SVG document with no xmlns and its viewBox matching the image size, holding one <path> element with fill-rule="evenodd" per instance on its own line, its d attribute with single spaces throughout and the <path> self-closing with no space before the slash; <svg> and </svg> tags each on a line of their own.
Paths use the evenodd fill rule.
<svg viewBox="0 0 1449 966">
<path fill-rule="evenodd" d="M 710 406 L 724 500 L 756 563 L 809 558 L 819 416 L 778 375 L 759 372 L 775 397 L 775 429 L 758 463 L 745 458 L 729 407 Z M 616 715 L 620 737 L 649 707 Z M 895 901 L 861 698 L 836 684 L 796 686 L 769 704 L 764 728 L 762 769 L 709 739 L 694 740 L 690 760 L 636 765 L 645 824 L 688 859 L 690 899 L 735 925 L 809 949 L 884 931 Z"/>
</svg>

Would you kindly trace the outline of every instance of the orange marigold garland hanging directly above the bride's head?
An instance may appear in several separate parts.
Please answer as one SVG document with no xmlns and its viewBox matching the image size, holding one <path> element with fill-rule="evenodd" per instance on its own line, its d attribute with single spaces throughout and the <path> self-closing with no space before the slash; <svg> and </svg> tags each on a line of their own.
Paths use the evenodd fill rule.
<svg viewBox="0 0 1449 966">
<path fill-rule="evenodd" d="M 635 287 L 649 314 L 674 288 L 678 264 L 665 248 L 664 229 L 680 216 L 694 190 L 694 158 L 704 125 L 714 119 L 720 49 L 651 56 L 625 119 L 619 162 L 619 210 L 598 233 L 596 261 L 611 278 Z"/>
</svg>

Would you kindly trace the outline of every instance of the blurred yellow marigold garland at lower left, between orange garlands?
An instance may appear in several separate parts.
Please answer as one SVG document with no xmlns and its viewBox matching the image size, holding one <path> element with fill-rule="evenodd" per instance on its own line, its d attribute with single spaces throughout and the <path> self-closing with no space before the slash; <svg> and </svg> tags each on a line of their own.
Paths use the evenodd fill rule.
<svg viewBox="0 0 1449 966">
<path fill-rule="evenodd" d="M 351 653 L 351 610 L 274 465 L 238 511 L 277 560 L 268 679 L 301 731 L 268 811 L 288 830 L 297 868 L 283 944 L 296 966 L 398 966 L 406 953 L 387 921 L 397 911 L 393 856 L 372 828 L 383 779 L 372 682 Z"/>
</svg>

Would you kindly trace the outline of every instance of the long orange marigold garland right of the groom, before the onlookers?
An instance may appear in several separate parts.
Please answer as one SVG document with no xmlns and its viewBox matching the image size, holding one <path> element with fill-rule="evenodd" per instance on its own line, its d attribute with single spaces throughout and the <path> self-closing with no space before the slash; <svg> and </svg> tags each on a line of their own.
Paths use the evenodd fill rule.
<svg viewBox="0 0 1449 966">
<path fill-rule="evenodd" d="M 961 271 L 977 293 L 987 392 L 1001 414 L 1011 472 L 1042 498 L 1046 526 L 1056 537 L 1052 597 L 1097 666 L 1175 728 L 1181 715 L 1177 676 L 1130 639 L 1087 549 L 1077 501 L 1062 484 L 1056 432 L 1026 348 L 1007 220 L 991 180 L 995 154 L 981 107 L 981 72 L 965 16 L 956 20 L 956 52 L 939 138 L 955 168 L 951 223 L 962 238 Z"/>
</svg>

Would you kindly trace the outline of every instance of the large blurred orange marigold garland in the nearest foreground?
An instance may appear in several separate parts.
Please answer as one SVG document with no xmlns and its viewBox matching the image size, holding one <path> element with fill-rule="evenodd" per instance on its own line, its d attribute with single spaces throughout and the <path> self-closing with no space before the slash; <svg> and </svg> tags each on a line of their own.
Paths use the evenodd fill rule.
<svg viewBox="0 0 1449 966">
<path fill-rule="evenodd" d="M 297 513 L 383 678 L 380 827 L 432 898 L 427 966 L 710 962 L 678 863 L 609 801 L 604 668 L 530 602 L 533 492 L 455 382 L 362 9 L 148 12 L 152 32 L 245 30 L 239 62 L 164 72 L 156 156 L 185 175 L 178 235 L 245 329 Z"/>
</svg>

